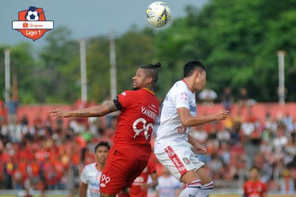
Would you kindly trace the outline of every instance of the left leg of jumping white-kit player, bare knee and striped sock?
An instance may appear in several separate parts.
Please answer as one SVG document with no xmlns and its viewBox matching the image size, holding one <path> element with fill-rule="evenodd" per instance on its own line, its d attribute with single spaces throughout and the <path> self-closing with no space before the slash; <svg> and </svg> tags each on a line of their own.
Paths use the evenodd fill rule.
<svg viewBox="0 0 296 197">
<path fill-rule="evenodd" d="M 185 172 L 180 179 L 186 184 L 186 188 L 179 197 L 195 197 L 200 190 L 201 180 L 195 169 Z M 190 196 L 191 195 L 191 196 Z"/>
</svg>

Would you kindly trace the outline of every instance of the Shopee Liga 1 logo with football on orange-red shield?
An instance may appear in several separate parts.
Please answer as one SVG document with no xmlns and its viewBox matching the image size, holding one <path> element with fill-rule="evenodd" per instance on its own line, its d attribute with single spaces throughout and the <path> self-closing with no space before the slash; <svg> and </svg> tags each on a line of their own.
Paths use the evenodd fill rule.
<svg viewBox="0 0 296 197">
<path fill-rule="evenodd" d="M 30 6 L 18 13 L 18 21 L 12 21 L 12 29 L 35 41 L 53 29 L 53 21 L 46 21 L 43 8 Z"/>
</svg>

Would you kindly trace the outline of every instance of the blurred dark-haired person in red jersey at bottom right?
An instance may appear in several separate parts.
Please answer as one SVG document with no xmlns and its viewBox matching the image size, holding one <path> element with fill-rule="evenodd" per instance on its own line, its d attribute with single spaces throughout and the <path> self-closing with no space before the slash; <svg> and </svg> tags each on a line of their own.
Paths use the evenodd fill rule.
<svg viewBox="0 0 296 197">
<path fill-rule="evenodd" d="M 244 184 L 245 197 L 267 197 L 267 187 L 259 180 L 259 173 L 256 166 L 250 169 L 250 179 Z"/>
</svg>

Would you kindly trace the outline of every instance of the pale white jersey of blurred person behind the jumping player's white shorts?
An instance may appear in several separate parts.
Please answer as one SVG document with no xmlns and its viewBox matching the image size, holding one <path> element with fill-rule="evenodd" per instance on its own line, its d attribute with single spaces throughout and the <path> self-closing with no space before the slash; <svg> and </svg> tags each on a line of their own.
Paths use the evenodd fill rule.
<svg viewBox="0 0 296 197">
<path fill-rule="evenodd" d="M 180 181 L 175 179 L 174 176 L 158 178 L 158 185 L 156 190 L 159 192 L 159 197 L 175 197 L 176 189 L 181 189 L 182 185 Z"/>
</svg>

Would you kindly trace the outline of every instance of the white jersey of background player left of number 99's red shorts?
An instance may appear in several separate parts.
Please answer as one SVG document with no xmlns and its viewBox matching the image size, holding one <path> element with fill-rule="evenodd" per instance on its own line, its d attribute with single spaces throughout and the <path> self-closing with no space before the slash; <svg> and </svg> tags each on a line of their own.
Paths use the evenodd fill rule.
<svg viewBox="0 0 296 197">
<path fill-rule="evenodd" d="M 85 165 L 80 180 L 88 184 L 87 197 L 100 197 L 100 178 L 102 172 L 96 168 L 96 163 Z"/>
</svg>

